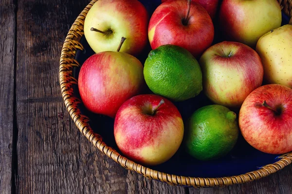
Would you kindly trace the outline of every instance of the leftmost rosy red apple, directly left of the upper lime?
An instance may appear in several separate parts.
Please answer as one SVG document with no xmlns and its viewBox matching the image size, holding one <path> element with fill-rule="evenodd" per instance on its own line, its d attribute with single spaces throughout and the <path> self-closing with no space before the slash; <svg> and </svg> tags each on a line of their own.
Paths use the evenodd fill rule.
<svg viewBox="0 0 292 194">
<path fill-rule="evenodd" d="M 105 51 L 92 55 L 82 65 L 79 93 L 85 107 L 114 117 L 120 106 L 145 85 L 143 65 L 124 52 Z"/>
</svg>

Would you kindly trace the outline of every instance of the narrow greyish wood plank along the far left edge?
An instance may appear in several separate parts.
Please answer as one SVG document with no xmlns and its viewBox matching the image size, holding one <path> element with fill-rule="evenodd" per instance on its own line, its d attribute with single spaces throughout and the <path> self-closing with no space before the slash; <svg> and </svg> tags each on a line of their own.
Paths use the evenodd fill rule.
<svg viewBox="0 0 292 194">
<path fill-rule="evenodd" d="M 11 193 L 15 5 L 12 0 L 0 1 L 0 193 Z"/>
</svg>

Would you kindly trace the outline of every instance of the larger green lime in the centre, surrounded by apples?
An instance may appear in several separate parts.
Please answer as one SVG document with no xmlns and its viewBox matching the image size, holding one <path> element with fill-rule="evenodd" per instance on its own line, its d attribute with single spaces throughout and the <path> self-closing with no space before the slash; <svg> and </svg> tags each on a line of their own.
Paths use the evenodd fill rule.
<svg viewBox="0 0 292 194">
<path fill-rule="evenodd" d="M 186 49 L 163 45 L 151 50 L 144 65 L 149 89 L 174 101 L 197 96 L 202 91 L 201 68 Z"/>
</svg>

